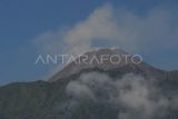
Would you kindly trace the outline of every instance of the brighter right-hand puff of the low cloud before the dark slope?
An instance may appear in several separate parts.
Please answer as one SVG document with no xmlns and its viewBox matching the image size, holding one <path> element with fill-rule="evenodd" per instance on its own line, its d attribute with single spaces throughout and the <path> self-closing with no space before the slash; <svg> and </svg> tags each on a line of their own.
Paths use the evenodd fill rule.
<svg viewBox="0 0 178 119">
<path fill-rule="evenodd" d="M 159 112 L 166 112 L 164 109 L 169 106 L 168 99 L 161 97 L 157 92 L 157 87 L 150 85 L 145 78 L 129 73 L 118 80 L 118 83 L 120 90 L 119 103 L 123 103 L 123 108 L 129 110 L 120 112 L 119 119 L 131 119 L 131 117 L 151 119 Z"/>
</svg>

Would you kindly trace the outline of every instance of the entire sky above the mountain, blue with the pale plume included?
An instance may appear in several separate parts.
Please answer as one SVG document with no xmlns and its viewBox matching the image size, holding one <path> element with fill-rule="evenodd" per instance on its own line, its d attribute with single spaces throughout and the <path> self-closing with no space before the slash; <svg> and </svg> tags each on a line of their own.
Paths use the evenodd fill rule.
<svg viewBox="0 0 178 119">
<path fill-rule="evenodd" d="M 0 0 L 0 85 L 41 79 L 40 53 L 119 47 L 178 69 L 177 0 Z M 79 37 L 80 36 L 80 37 Z"/>
</svg>

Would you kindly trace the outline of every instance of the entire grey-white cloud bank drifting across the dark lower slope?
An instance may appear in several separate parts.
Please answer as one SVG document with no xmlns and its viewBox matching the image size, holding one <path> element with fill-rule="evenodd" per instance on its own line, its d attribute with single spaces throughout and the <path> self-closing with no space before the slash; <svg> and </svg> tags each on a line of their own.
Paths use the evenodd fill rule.
<svg viewBox="0 0 178 119">
<path fill-rule="evenodd" d="M 167 98 L 152 79 L 134 73 L 119 79 L 98 72 L 85 73 L 69 82 L 66 90 L 79 103 L 88 100 L 116 107 L 119 119 L 152 119 L 167 116 L 170 108 L 178 109 L 175 96 Z"/>
</svg>

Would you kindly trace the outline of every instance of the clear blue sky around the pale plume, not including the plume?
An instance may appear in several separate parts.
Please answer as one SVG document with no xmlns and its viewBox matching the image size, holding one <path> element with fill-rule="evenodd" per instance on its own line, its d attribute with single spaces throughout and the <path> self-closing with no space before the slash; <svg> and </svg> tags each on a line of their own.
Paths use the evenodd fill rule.
<svg viewBox="0 0 178 119">
<path fill-rule="evenodd" d="M 161 11 L 159 12 L 160 19 L 167 19 L 170 14 L 171 19 L 169 19 L 169 23 L 162 27 L 162 29 L 168 29 L 160 33 L 170 31 L 167 36 L 172 37 L 161 40 L 165 36 L 159 37 L 159 34 L 155 34 L 156 37 L 151 37 L 150 39 L 158 39 L 158 43 L 150 43 L 149 47 L 147 46 L 147 49 L 150 48 L 154 50 L 147 50 L 141 48 L 144 47 L 141 46 L 138 52 L 144 56 L 147 62 L 160 69 L 178 69 L 178 41 L 176 40 L 178 38 L 178 14 L 175 12 L 178 9 L 177 0 L 0 0 L 0 85 L 14 81 L 32 81 L 41 79 L 50 72 L 51 68 L 49 68 L 49 66 L 34 65 L 37 56 L 41 52 L 41 46 L 43 46 L 43 42 L 34 44 L 34 40 L 41 38 L 40 36 L 47 32 L 50 32 L 50 36 L 57 36 L 53 32 L 59 32 L 61 29 L 67 29 L 67 32 L 76 32 L 75 26 L 85 26 L 86 22 L 90 22 L 88 18 L 92 18 L 92 14 L 95 16 L 95 10 L 108 10 L 108 8 L 100 8 L 107 3 L 115 9 L 113 12 L 118 10 L 116 16 L 123 9 L 126 14 L 129 12 L 136 16 L 131 19 L 135 20 L 135 18 L 139 18 L 144 23 L 147 21 L 149 22 L 149 17 L 147 17 L 148 20 L 146 21 L 144 19 L 145 16 L 149 16 L 148 12 L 151 10 L 154 11 L 156 9 L 154 12 Z M 160 10 L 157 10 L 157 8 Z M 125 17 L 125 13 L 121 14 L 121 17 Z M 154 13 L 150 14 L 155 16 Z M 112 16 L 115 17 L 115 14 Z M 129 21 L 125 22 L 127 19 L 129 19 L 129 17 L 122 19 L 125 24 L 123 29 L 126 29 L 126 24 L 129 24 Z M 154 20 L 152 22 L 156 22 Z M 165 23 L 167 21 L 162 22 Z M 159 27 L 161 28 L 162 24 L 160 23 Z M 63 30 L 63 32 L 65 31 L 66 30 Z M 148 30 L 148 32 L 150 32 L 150 30 Z M 144 34 L 147 36 L 149 33 Z M 57 42 L 63 44 L 62 39 L 62 37 L 59 37 Z M 150 42 L 154 40 L 150 40 Z M 95 40 L 91 43 L 92 46 L 102 47 L 107 46 L 107 42 L 108 41 Z M 161 44 L 161 42 L 166 42 L 168 46 L 161 47 L 165 44 Z M 169 42 L 171 43 L 169 44 Z M 112 43 L 115 44 L 115 41 L 112 41 Z M 59 46 L 62 47 L 61 44 Z M 157 47 L 156 44 L 160 46 Z M 58 50 L 62 49 L 59 48 Z M 128 51 L 132 51 L 132 49 Z"/>
</svg>

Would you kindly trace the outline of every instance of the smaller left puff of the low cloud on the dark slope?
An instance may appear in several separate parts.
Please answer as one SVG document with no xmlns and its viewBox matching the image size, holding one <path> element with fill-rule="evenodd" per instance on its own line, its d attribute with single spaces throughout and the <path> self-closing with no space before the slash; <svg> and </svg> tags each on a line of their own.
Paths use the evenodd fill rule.
<svg viewBox="0 0 178 119">
<path fill-rule="evenodd" d="M 71 81 L 67 86 L 67 93 L 76 97 L 76 98 L 87 98 L 87 99 L 92 99 L 93 101 L 97 101 L 96 99 L 100 98 L 101 100 L 105 99 L 102 98 L 106 96 L 105 93 L 108 93 L 107 88 L 103 88 L 105 86 L 109 86 L 110 83 L 110 78 L 107 75 L 99 75 L 97 72 L 92 73 L 87 73 L 87 75 L 81 75 L 78 81 Z M 112 83 L 110 83 L 112 86 Z M 100 91 L 100 90 L 106 90 L 105 93 L 100 93 L 100 97 L 96 97 L 93 91 Z M 100 92 L 102 92 L 100 91 Z M 109 98 L 109 97 L 108 97 Z"/>
</svg>

